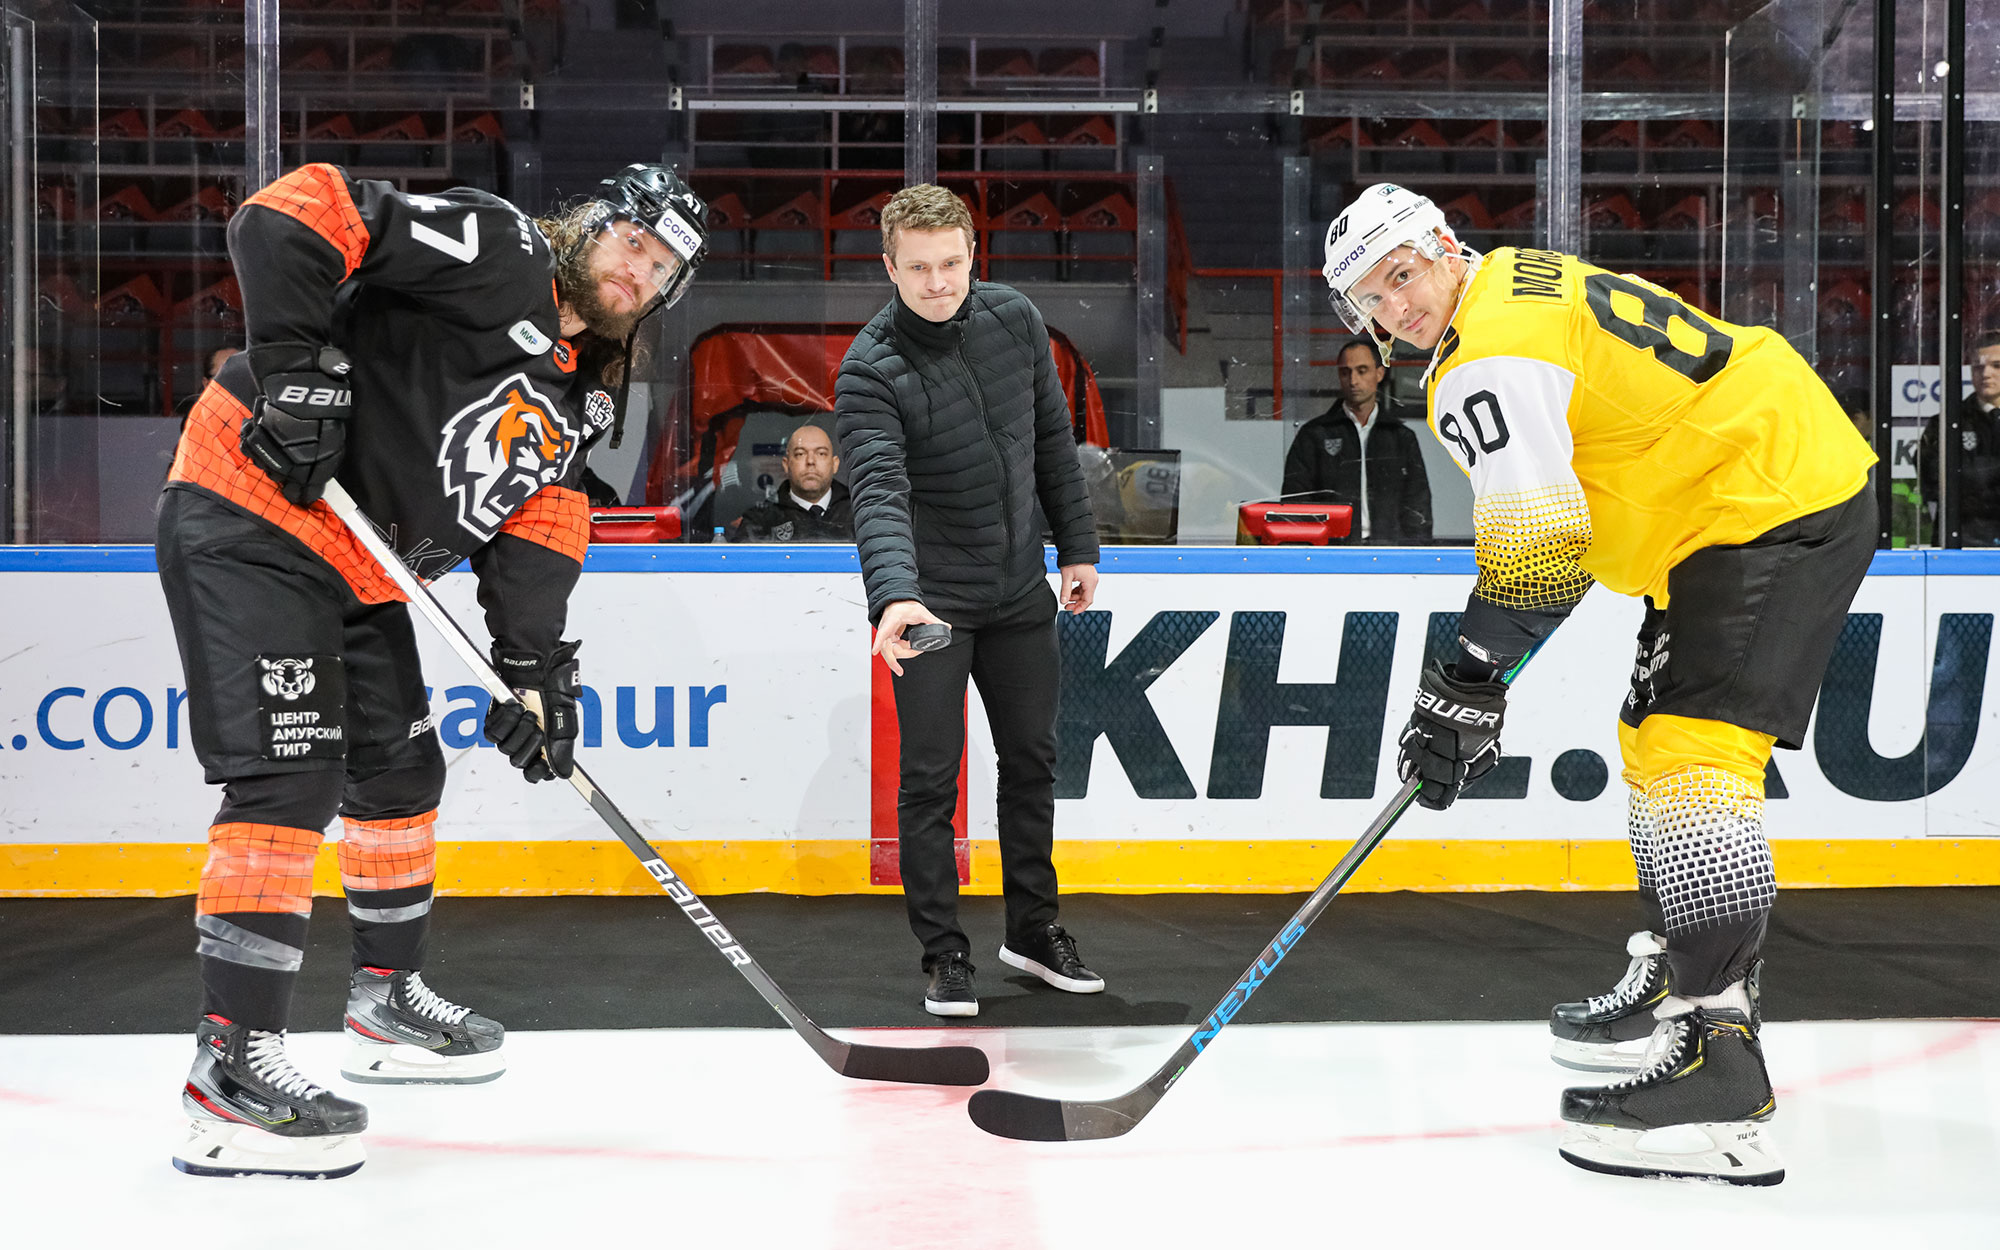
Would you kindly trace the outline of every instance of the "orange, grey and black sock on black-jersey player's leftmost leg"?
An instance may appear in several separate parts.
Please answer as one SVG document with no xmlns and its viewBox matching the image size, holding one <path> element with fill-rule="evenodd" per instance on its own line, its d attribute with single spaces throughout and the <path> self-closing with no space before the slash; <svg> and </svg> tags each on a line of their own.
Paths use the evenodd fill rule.
<svg viewBox="0 0 2000 1250">
<path fill-rule="evenodd" d="M 318 830 L 226 822 L 208 830 L 194 898 L 202 1014 L 282 1032 L 312 920 Z"/>
</svg>

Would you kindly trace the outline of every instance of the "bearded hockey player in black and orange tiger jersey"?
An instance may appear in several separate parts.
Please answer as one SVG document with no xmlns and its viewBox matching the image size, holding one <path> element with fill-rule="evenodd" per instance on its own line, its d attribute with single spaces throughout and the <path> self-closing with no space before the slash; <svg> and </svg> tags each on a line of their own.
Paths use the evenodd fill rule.
<svg viewBox="0 0 2000 1250">
<path fill-rule="evenodd" d="M 316 164 L 232 218 L 248 350 L 188 418 L 158 532 L 194 750 L 222 786 L 180 1170 L 362 1164 L 366 1108 L 284 1052 L 334 816 L 354 924 L 342 1074 L 504 1070 L 500 1024 L 424 984 L 444 756 L 402 594 L 320 494 L 338 476 L 424 578 L 472 562 L 518 694 L 486 736 L 530 782 L 568 776 L 584 454 L 614 422 L 636 324 L 686 292 L 704 242 L 702 202 L 644 164 L 544 220 L 480 190 L 404 194 Z"/>
</svg>

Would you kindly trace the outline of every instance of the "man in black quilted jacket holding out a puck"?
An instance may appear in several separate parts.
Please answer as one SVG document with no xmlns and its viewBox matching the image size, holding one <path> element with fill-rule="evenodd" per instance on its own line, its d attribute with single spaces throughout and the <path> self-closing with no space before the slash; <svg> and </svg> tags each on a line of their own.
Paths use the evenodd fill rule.
<svg viewBox="0 0 2000 1250">
<path fill-rule="evenodd" d="M 1096 594 L 1098 534 L 1048 328 L 1020 292 L 972 280 L 972 214 L 942 186 L 890 198 L 882 262 L 896 298 L 854 336 L 834 414 L 874 654 L 896 674 L 896 830 L 910 928 L 930 974 L 924 1010 L 980 1010 L 952 852 L 968 676 L 1000 756 L 1000 960 L 1058 990 L 1096 994 L 1104 980 L 1056 922 L 1050 858 L 1060 660 L 1042 516 L 1070 612 Z M 950 642 L 904 670 L 920 656 L 904 630 L 946 622 Z"/>
</svg>

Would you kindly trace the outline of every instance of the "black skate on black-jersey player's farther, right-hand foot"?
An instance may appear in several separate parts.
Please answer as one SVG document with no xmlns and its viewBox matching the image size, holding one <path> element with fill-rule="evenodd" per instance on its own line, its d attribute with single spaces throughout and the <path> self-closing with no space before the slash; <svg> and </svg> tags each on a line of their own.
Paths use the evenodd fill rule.
<svg viewBox="0 0 2000 1250">
<path fill-rule="evenodd" d="M 506 1030 L 438 998 L 422 972 L 358 968 L 346 1032 L 352 1046 L 340 1074 L 352 1082 L 468 1086 L 506 1072 Z"/>
</svg>

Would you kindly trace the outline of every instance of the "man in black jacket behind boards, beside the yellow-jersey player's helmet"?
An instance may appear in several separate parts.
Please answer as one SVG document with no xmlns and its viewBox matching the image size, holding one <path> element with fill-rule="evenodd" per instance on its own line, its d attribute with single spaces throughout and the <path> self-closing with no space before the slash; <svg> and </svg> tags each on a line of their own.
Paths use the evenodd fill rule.
<svg viewBox="0 0 2000 1250">
<path fill-rule="evenodd" d="M 1382 390 L 1382 350 L 1354 338 L 1340 348 L 1340 402 L 1298 430 L 1284 458 L 1286 498 L 1354 508 L 1354 528 L 1334 542 L 1430 542 L 1430 476 L 1424 448 Z"/>
</svg>

